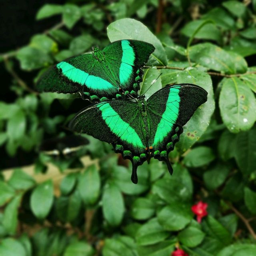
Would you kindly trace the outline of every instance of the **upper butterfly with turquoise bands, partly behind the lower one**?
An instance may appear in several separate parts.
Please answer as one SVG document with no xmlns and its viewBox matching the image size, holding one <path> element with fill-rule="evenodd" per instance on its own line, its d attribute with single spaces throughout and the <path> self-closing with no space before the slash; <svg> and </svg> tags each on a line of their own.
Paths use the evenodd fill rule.
<svg viewBox="0 0 256 256">
<path fill-rule="evenodd" d="M 155 48 L 137 40 L 120 40 L 102 51 L 64 60 L 46 71 L 36 84 L 39 92 L 79 92 L 83 99 L 100 102 L 138 96 L 142 67 Z"/>
</svg>

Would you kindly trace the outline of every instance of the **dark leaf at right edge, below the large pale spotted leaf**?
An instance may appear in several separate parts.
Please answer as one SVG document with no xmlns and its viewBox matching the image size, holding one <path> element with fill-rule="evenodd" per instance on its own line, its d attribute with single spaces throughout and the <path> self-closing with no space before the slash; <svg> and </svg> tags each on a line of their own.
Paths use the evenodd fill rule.
<svg viewBox="0 0 256 256">
<path fill-rule="evenodd" d="M 250 175 L 256 170 L 256 161 L 252 161 L 256 157 L 256 127 L 237 134 L 234 152 L 236 162 L 244 175 Z"/>
</svg>

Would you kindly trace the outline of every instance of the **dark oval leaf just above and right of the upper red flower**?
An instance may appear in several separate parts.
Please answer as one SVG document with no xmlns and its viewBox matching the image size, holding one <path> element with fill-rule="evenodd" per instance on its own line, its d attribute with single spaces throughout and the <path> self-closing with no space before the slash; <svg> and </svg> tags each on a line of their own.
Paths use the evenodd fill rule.
<svg viewBox="0 0 256 256">
<path fill-rule="evenodd" d="M 214 190 L 224 183 L 229 173 L 229 166 L 219 162 L 204 172 L 204 182 L 208 189 Z"/>
</svg>

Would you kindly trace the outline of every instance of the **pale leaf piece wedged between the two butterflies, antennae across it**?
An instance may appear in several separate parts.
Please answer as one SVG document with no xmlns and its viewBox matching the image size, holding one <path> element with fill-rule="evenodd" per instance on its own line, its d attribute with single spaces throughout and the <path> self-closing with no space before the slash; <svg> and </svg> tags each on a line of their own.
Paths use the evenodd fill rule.
<svg viewBox="0 0 256 256">
<path fill-rule="evenodd" d="M 152 94 L 162 89 L 160 72 L 156 67 L 144 69 L 142 83 L 140 84 L 139 95 L 145 95 L 147 100 Z"/>
</svg>

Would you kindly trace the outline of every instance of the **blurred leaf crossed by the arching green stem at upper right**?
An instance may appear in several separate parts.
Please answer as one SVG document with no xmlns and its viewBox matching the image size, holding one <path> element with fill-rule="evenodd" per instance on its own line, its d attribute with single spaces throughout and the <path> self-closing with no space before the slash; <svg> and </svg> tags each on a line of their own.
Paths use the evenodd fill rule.
<svg viewBox="0 0 256 256">
<path fill-rule="evenodd" d="M 193 20 L 188 22 L 181 30 L 181 33 L 185 36 L 191 37 L 194 31 L 201 26 L 205 20 Z M 215 40 L 217 42 L 222 41 L 222 34 L 215 24 L 205 24 L 194 36 L 199 39 Z"/>
</svg>

